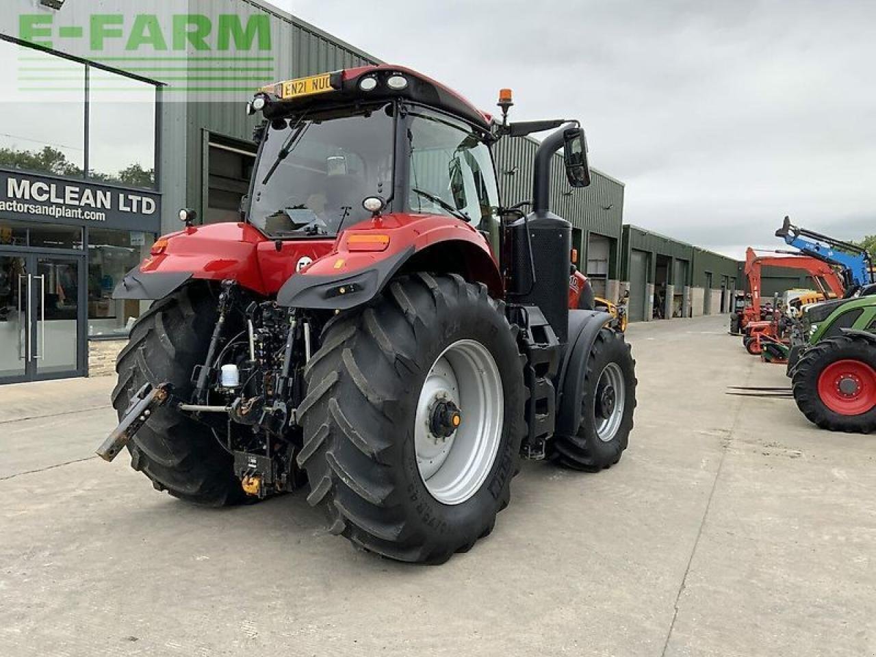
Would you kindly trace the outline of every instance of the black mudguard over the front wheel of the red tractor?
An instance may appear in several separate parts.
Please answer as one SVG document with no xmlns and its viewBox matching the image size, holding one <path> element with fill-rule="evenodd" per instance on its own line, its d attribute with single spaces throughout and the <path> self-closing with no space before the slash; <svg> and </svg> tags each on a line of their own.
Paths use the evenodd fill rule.
<svg viewBox="0 0 876 657">
<path fill-rule="evenodd" d="M 590 349 L 600 329 L 611 321 L 611 314 L 596 310 L 569 310 L 569 343 L 556 378 L 557 414 L 555 434 L 575 435 L 581 424 L 581 398 L 584 373 Z"/>
</svg>

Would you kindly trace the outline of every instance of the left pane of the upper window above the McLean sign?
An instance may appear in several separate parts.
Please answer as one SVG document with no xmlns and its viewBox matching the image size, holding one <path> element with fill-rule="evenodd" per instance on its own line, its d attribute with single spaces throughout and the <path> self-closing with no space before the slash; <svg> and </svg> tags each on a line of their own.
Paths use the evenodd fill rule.
<svg viewBox="0 0 876 657">
<path fill-rule="evenodd" d="M 0 166 L 82 175 L 85 66 L 0 40 Z M 51 69 L 46 73 L 46 69 Z M 40 88 L 45 91 L 40 91 Z M 46 93 L 51 91 L 51 93 Z"/>
</svg>

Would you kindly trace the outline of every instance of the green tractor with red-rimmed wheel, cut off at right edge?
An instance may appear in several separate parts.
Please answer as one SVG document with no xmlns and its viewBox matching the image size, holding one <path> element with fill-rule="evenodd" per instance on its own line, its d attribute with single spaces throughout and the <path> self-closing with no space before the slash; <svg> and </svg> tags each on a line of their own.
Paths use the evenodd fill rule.
<svg viewBox="0 0 876 657">
<path fill-rule="evenodd" d="M 800 329 L 788 377 L 802 413 L 830 431 L 876 430 L 876 296 L 808 307 Z"/>
</svg>

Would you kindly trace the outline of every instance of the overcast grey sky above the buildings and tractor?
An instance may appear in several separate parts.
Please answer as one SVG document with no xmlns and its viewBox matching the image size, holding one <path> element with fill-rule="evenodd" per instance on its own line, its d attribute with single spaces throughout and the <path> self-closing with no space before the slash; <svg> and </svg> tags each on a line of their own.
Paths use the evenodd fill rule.
<svg viewBox="0 0 876 657">
<path fill-rule="evenodd" d="M 734 257 L 876 233 L 876 3 L 273 0 L 517 119 L 576 117 L 624 221 Z"/>
</svg>

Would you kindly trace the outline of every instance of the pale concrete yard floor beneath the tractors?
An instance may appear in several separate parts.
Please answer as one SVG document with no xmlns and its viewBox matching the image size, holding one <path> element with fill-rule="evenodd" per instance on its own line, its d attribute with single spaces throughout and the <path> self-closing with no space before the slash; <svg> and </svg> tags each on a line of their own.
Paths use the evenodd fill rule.
<svg viewBox="0 0 876 657">
<path fill-rule="evenodd" d="M 93 455 L 111 378 L 0 389 L 0 655 L 873 655 L 876 436 L 830 434 L 726 316 L 632 325 L 630 449 L 525 463 L 439 567 L 327 533 L 304 494 L 208 510 Z"/>
</svg>

